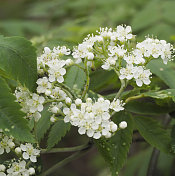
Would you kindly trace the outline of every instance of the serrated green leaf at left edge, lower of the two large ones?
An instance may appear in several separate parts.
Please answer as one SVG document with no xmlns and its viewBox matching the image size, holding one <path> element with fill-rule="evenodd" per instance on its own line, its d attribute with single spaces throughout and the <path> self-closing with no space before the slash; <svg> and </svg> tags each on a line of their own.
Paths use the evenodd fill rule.
<svg viewBox="0 0 175 176">
<path fill-rule="evenodd" d="M 34 142 L 25 114 L 15 100 L 7 83 L 0 77 L 0 128 L 19 141 Z"/>
</svg>

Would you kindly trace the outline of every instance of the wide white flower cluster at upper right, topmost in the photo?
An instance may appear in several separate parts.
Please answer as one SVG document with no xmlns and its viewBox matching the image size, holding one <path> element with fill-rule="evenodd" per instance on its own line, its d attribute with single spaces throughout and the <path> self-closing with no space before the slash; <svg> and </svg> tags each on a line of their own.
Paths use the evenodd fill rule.
<svg viewBox="0 0 175 176">
<path fill-rule="evenodd" d="M 88 35 L 72 53 L 77 63 L 86 59 L 101 60 L 104 70 L 116 70 L 120 79 L 136 81 L 137 86 L 151 83 L 151 72 L 145 65 L 154 58 L 161 57 L 164 64 L 172 58 L 173 46 L 165 40 L 146 38 L 133 47 L 135 39 L 130 26 L 116 29 L 100 28 L 97 35 Z"/>
</svg>

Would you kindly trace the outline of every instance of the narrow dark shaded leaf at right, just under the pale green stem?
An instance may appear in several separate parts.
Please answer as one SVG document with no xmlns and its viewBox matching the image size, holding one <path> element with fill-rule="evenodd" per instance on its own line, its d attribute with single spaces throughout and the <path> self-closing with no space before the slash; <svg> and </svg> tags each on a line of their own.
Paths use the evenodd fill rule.
<svg viewBox="0 0 175 176">
<path fill-rule="evenodd" d="M 129 112 L 149 115 L 166 114 L 172 112 L 174 108 L 170 106 L 159 106 L 154 102 L 140 103 L 140 101 L 130 101 L 125 105 L 125 109 Z"/>
</svg>

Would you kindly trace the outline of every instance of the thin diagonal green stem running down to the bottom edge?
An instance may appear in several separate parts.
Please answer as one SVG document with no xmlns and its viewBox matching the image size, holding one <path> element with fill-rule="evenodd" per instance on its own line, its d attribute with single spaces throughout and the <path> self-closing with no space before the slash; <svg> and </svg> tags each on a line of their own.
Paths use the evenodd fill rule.
<svg viewBox="0 0 175 176">
<path fill-rule="evenodd" d="M 55 164 L 54 166 L 52 166 L 51 168 L 49 168 L 48 170 L 46 170 L 44 173 L 42 173 L 40 176 L 49 176 L 54 171 L 56 171 L 58 168 L 66 165 L 66 164 L 68 164 L 72 160 L 75 160 L 75 159 L 81 157 L 83 154 L 85 154 L 88 151 L 88 149 L 91 148 L 91 146 L 92 146 L 92 143 L 90 145 L 88 145 L 87 148 L 83 148 L 81 151 L 78 151 L 78 152 L 72 154 L 71 156 L 67 157 L 66 159 L 58 162 L 57 164 Z"/>
</svg>

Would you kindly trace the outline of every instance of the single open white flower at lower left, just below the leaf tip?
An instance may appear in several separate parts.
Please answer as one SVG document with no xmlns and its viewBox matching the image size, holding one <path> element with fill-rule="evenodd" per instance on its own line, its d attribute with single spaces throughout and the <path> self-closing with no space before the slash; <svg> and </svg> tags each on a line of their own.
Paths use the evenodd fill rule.
<svg viewBox="0 0 175 176">
<path fill-rule="evenodd" d="M 31 162 L 37 162 L 36 157 L 39 156 L 40 150 L 33 147 L 32 144 L 26 143 L 25 145 L 20 145 L 21 150 L 23 151 L 23 158 L 30 159 Z"/>
</svg>

